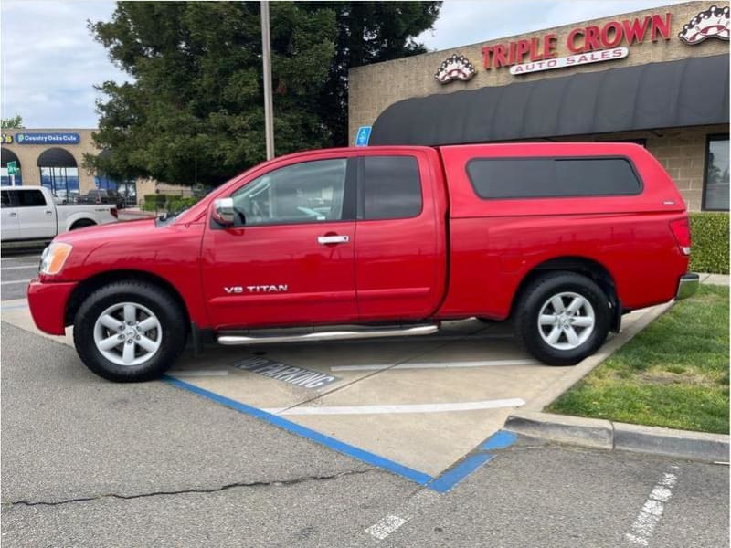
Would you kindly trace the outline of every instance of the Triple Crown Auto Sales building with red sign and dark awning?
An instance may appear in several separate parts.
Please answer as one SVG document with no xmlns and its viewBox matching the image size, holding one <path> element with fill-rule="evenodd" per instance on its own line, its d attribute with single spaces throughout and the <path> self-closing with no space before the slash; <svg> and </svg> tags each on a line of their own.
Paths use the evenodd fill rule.
<svg viewBox="0 0 731 548">
<path fill-rule="evenodd" d="M 728 211 L 728 40 L 727 3 L 689 2 L 353 68 L 351 142 L 637 142 Z"/>
</svg>

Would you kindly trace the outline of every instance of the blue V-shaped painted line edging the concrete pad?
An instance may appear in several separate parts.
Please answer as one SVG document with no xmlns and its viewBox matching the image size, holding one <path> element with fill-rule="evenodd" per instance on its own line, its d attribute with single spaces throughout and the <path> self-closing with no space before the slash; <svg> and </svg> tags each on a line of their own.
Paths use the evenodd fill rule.
<svg viewBox="0 0 731 548">
<path fill-rule="evenodd" d="M 356 448 L 355 446 L 344 443 L 334 437 L 325 436 L 311 428 L 302 427 L 297 423 L 293 423 L 281 416 L 272 415 L 258 407 L 247 406 L 246 404 L 232 400 L 224 395 L 218 395 L 215 392 L 210 392 L 205 388 L 191 385 L 190 383 L 186 383 L 185 381 L 181 381 L 180 379 L 176 379 L 169 375 L 164 375 L 163 380 L 170 385 L 174 385 L 178 388 L 182 388 L 183 390 L 206 397 L 218 404 L 235 409 L 240 413 L 244 413 L 245 415 L 259 418 L 275 427 L 281 427 L 292 434 L 310 439 L 315 443 L 326 448 L 334 449 L 348 457 L 357 458 L 358 460 L 365 462 L 365 464 L 385 469 L 397 476 L 414 481 L 415 483 L 418 483 L 418 485 L 424 486 L 427 489 L 434 490 L 438 493 L 446 493 L 451 490 L 455 485 L 460 483 L 462 479 L 467 478 L 476 469 L 479 469 L 483 464 L 492 460 L 494 455 L 485 452 L 486 450 L 507 448 L 517 439 L 517 436 L 513 433 L 500 430 L 482 442 L 482 444 L 478 446 L 476 452 L 471 453 L 471 455 L 467 458 L 463 458 L 457 465 L 442 472 L 439 477 L 432 478 L 429 474 L 420 472 L 416 469 L 411 469 L 408 466 L 399 464 L 389 458 L 380 457 L 379 455 L 366 451 L 365 449 Z"/>
</svg>

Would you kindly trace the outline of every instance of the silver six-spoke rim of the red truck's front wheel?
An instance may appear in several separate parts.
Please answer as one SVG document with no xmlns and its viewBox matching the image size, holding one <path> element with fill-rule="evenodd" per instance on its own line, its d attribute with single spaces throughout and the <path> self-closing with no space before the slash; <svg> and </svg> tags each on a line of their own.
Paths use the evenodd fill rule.
<svg viewBox="0 0 731 548">
<path fill-rule="evenodd" d="M 160 321 L 136 302 L 119 302 L 101 312 L 94 324 L 97 350 L 112 364 L 144 364 L 163 342 Z"/>
</svg>

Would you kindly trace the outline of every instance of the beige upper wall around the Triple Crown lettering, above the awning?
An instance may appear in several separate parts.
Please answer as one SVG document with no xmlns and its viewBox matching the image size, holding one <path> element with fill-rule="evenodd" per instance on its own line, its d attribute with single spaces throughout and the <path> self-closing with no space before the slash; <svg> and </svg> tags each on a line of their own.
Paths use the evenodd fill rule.
<svg viewBox="0 0 731 548">
<path fill-rule="evenodd" d="M 609 68 L 630 67 L 652 62 L 671 61 L 673 59 L 712 56 L 728 53 L 728 42 L 715 38 L 707 39 L 695 46 L 688 46 L 678 38 L 683 25 L 700 11 L 711 5 L 726 5 L 722 2 L 688 2 L 685 4 L 657 7 L 652 10 L 642 10 L 629 14 L 603 17 L 591 21 L 572 23 L 566 26 L 556 26 L 544 30 L 536 30 L 524 35 L 501 37 L 495 40 L 471 44 L 470 46 L 454 47 L 433 53 L 427 53 L 410 58 L 402 58 L 384 63 L 376 63 L 365 67 L 352 68 L 349 73 L 348 90 L 348 129 L 349 142 L 355 141 L 355 132 L 359 126 L 373 125 L 378 115 L 389 105 L 411 97 L 423 97 L 434 93 L 451 93 L 460 90 L 474 90 L 486 86 L 505 86 L 514 82 L 530 81 L 545 78 L 560 78 L 579 72 L 593 72 Z M 506 5 L 505 9 L 510 9 Z M 556 54 L 558 57 L 572 55 L 567 49 L 566 38 L 568 33 L 577 27 L 588 25 L 603 26 L 609 21 L 621 21 L 652 15 L 671 14 L 670 39 L 650 40 L 649 32 L 641 44 L 629 46 L 630 54 L 627 58 L 584 65 L 577 68 L 557 68 L 531 74 L 514 76 L 509 67 L 482 68 L 482 47 L 494 46 L 519 39 L 540 38 L 545 34 L 556 34 Z M 488 26 L 489 22 L 485 22 Z M 628 47 L 626 43 L 620 47 Z M 451 81 L 440 84 L 434 79 L 434 73 L 441 62 L 452 54 L 460 54 L 469 58 L 477 69 L 477 74 L 469 81 Z"/>
</svg>

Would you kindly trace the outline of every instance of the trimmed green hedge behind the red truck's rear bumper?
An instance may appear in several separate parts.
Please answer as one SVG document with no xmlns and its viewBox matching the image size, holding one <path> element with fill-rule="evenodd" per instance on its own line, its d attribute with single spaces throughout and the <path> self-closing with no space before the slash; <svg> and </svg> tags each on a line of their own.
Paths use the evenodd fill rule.
<svg viewBox="0 0 731 548">
<path fill-rule="evenodd" d="M 693 272 L 728 274 L 728 214 L 691 213 Z"/>
</svg>

